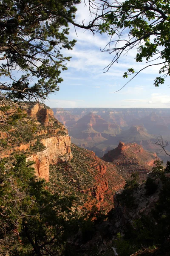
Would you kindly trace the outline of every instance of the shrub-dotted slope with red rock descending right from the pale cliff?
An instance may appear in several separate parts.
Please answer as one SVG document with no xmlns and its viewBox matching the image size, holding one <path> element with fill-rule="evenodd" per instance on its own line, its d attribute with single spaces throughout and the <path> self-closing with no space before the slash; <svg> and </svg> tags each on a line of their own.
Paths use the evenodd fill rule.
<svg viewBox="0 0 170 256">
<path fill-rule="evenodd" d="M 112 163 L 96 157 L 93 151 L 74 144 L 71 144 L 71 151 L 71 162 L 51 166 L 51 186 L 64 195 L 76 194 L 81 209 L 90 210 L 95 205 L 108 212 L 113 208 L 113 195 L 125 185 L 124 178 Z"/>
</svg>

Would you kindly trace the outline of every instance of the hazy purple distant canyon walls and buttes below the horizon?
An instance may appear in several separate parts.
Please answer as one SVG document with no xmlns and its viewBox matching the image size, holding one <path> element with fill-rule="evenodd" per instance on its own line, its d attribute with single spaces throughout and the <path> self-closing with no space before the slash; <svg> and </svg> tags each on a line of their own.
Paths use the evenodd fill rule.
<svg viewBox="0 0 170 256">
<path fill-rule="evenodd" d="M 151 108 L 52 108 L 54 116 L 68 128 L 72 143 L 103 157 L 119 141 L 137 143 L 168 157 L 156 145 L 160 135 L 170 142 L 170 110 Z M 170 145 L 166 151 L 170 153 Z"/>
</svg>

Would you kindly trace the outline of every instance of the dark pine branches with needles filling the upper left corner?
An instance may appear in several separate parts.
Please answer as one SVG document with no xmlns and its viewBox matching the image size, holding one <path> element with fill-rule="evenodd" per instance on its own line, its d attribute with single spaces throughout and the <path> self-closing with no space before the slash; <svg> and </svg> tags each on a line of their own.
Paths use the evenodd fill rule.
<svg viewBox="0 0 170 256">
<path fill-rule="evenodd" d="M 0 90 L 6 96 L 38 100 L 59 90 L 61 70 L 70 60 L 61 49 L 72 49 L 76 42 L 68 40 L 68 23 L 78 3 L 0 0 Z"/>
</svg>

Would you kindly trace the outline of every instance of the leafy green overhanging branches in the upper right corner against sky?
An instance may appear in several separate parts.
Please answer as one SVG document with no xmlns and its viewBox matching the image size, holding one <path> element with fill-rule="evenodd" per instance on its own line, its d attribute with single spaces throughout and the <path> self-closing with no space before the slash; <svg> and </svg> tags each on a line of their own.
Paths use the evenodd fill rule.
<svg viewBox="0 0 170 256">
<path fill-rule="evenodd" d="M 154 84 L 163 84 L 170 75 L 170 1 L 90 0 L 89 4 L 95 18 L 87 26 L 74 24 L 110 35 L 110 42 L 102 49 L 114 55 L 106 70 L 128 51 L 135 51 L 136 62 L 146 61 L 146 65 L 138 72 L 130 67 L 123 77 L 134 77 L 145 68 L 160 64 L 161 75 Z"/>
</svg>

